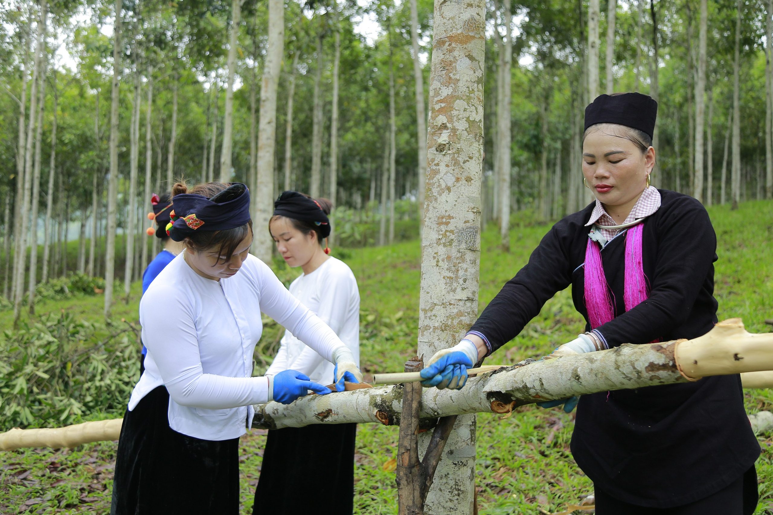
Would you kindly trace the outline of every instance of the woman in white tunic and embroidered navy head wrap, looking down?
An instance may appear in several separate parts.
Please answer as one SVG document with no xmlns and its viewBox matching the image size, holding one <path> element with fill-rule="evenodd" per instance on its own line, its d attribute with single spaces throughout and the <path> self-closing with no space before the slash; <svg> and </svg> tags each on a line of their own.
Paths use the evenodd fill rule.
<svg viewBox="0 0 773 515">
<path fill-rule="evenodd" d="M 145 372 L 118 442 L 111 513 L 238 513 L 238 442 L 252 404 L 329 393 L 296 370 L 252 377 L 261 312 L 291 329 L 339 375 L 362 377 L 349 348 L 250 255 L 247 187 L 172 189 L 167 226 L 182 251 L 140 302 Z"/>
</svg>

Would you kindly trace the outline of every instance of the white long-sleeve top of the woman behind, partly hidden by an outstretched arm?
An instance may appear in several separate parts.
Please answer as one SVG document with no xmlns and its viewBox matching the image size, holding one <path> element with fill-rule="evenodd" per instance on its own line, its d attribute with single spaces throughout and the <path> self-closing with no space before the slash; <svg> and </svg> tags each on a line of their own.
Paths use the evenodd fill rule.
<svg viewBox="0 0 773 515">
<path fill-rule="evenodd" d="M 315 271 L 302 274 L 290 285 L 290 293 L 315 312 L 352 350 L 359 366 L 359 290 L 351 268 L 335 257 L 326 259 Z M 279 352 L 266 375 L 282 370 L 298 370 L 312 381 L 331 384 L 333 363 L 285 331 Z"/>
</svg>

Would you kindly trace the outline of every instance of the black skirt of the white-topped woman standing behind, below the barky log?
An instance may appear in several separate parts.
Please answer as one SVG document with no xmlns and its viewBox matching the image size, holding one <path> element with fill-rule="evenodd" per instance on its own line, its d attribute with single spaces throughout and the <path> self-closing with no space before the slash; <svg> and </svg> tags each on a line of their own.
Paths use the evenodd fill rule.
<svg viewBox="0 0 773 515">
<path fill-rule="evenodd" d="M 356 431 L 356 424 L 268 431 L 253 515 L 352 513 Z M 319 486 L 313 496 L 298 495 L 311 483 Z"/>
</svg>

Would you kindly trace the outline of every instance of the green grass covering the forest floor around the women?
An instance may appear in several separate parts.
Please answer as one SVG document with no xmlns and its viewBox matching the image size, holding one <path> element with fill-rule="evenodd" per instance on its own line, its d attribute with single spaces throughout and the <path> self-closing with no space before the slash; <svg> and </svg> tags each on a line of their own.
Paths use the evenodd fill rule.
<svg viewBox="0 0 773 515">
<path fill-rule="evenodd" d="M 710 215 L 719 240 L 719 318 L 740 316 L 751 332 L 768 332 L 771 327 L 764 324 L 764 319 L 773 318 L 773 203 L 744 203 L 737 211 L 716 206 L 710 209 Z M 546 231 L 545 225 L 514 227 L 512 251 L 504 254 L 497 247 L 495 227 L 489 225 L 482 236 L 480 309 L 526 263 Z M 338 255 L 351 266 L 359 282 L 363 371 L 402 370 L 416 346 L 421 278 L 418 241 L 342 250 Z M 274 268 L 283 281 L 297 274 L 284 264 Z M 114 317 L 137 318 L 138 292 L 138 285 L 133 285 L 131 302 L 117 303 Z M 523 333 L 489 362 L 513 363 L 542 356 L 577 335 L 582 322 L 568 293 L 561 292 L 548 302 Z M 97 296 L 43 302 L 38 312 L 71 309 L 96 320 L 101 316 L 102 300 Z M 0 328 L 8 327 L 8 322 L 8 315 L 0 313 Z M 267 328 L 265 339 L 270 341 L 266 345 L 261 342 L 259 347 L 264 355 L 280 334 L 275 324 Z M 773 392 L 746 391 L 746 406 L 750 413 L 770 409 Z M 519 408 L 503 420 L 498 415 L 479 414 L 475 478 L 479 513 L 554 513 L 590 493 L 590 480 L 577 469 L 569 452 L 573 425 L 572 414 L 534 406 Z M 773 509 L 773 439 L 761 435 L 759 441 L 761 503 L 756 513 L 761 515 L 773 513 L 767 508 L 771 505 Z M 396 457 L 396 443 L 397 428 L 359 426 L 356 513 L 397 513 L 397 490 L 390 467 L 390 459 Z M 251 513 L 263 445 L 263 431 L 252 431 L 242 438 L 242 513 Z M 0 453 L 0 512 L 107 513 L 114 452 L 114 443 L 100 442 L 58 452 L 26 449 Z"/>
</svg>

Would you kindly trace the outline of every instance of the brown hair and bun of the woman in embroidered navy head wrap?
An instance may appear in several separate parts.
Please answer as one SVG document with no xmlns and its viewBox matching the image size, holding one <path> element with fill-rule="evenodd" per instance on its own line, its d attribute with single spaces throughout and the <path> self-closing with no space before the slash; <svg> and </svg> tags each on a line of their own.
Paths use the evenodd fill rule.
<svg viewBox="0 0 773 515">
<path fill-rule="evenodd" d="M 186 182 L 175 182 L 175 186 L 172 186 L 172 199 L 175 198 L 175 195 L 182 193 L 193 193 L 211 199 L 228 186 L 231 186 L 230 183 L 206 182 L 188 189 Z M 225 200 L 228 199 L 223 199 L 223 201 Z M 182 240 L 182 243 L 185 244 L 186 248 L 194 252 L 217 251 L 217 261 L 215 261 L 215 264 L 218 264 L 220 256 L 225 256 L 225 261 L 231 258 L 233 252 L 237 250 L 237 247 L 247 237 L 247 234 L 252 234 L 252 220 L 240 227 L 233 227 L 233 229 L 196 232 Z"/>
</svg>

